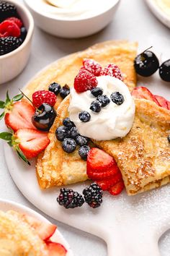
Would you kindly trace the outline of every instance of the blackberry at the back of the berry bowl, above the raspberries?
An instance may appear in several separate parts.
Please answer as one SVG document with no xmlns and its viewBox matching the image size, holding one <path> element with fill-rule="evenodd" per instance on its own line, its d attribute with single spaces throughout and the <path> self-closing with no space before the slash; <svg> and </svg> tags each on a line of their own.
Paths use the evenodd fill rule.
<svg viewBox="0 0 170 256">
<path fill-rule="evenodd" d="M 7 17 L 16 17 L 17 8 L 14 4 L 7 3 L 6 1 L 0 1 L 0 22 L 5 20 Z"/>
</svg>

